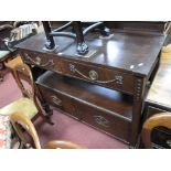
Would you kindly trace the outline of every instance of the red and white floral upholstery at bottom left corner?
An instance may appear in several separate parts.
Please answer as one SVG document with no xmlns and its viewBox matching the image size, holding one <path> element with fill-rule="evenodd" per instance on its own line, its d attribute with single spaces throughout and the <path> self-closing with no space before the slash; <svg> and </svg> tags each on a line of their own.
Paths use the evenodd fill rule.
<svg viewBox="0 0 171 171">
<path fill-rule="evenodd" d="M 12 146 L 12 127 L 9 116 L 0 115 L 0 149 L 10 149 Z"/>
</svg>

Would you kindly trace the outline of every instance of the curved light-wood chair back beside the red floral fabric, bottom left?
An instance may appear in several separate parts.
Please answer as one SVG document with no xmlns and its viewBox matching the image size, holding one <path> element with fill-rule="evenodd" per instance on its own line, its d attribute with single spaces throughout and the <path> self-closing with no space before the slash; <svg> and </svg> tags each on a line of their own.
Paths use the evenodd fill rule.
<svg viewBox="0 0 171 171">
<path fill-rule="evenodd" d="M 39 140 L 35 127 L 25 115 L 21 113 L 14 113 L 10 116 L 10 120 L 15 132 L 18 133 L 19 138 L 21 139 L 25 148 L 33 147 L 36 149 L 41 149 L 41 145 L 40 145 L 40 140 Z M 33 140 L 32 145 L 26 137 L 28 135 Z"/>
</svg>

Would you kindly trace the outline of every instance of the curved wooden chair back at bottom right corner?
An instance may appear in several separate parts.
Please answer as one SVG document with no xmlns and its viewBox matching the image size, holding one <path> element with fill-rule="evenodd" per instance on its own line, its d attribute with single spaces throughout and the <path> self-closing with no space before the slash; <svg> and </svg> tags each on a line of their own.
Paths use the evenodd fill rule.
<svg viewBox="0 0 171 171">
<path fill-rule="evenodd" d="M 141 138 L 147 149 L 152 148 L 151 132 L 156 127 L 165 127 L 171 129 L 171 113 L 156 114 L 145 121 Z"/>
</svg>

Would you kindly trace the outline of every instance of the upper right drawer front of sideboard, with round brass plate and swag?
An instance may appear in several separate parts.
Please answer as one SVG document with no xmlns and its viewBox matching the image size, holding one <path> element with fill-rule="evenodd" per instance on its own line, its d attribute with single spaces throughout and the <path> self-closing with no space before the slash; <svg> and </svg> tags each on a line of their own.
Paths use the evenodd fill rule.
<svg viewBox="0 0 171 171">
<path fill-rule="evenodd" d="M 121 72 L 62 61 L 62 70 L 66 75 L 75 76 L 98 85 L 133 93 L 133 76 Z"/>
</svg>

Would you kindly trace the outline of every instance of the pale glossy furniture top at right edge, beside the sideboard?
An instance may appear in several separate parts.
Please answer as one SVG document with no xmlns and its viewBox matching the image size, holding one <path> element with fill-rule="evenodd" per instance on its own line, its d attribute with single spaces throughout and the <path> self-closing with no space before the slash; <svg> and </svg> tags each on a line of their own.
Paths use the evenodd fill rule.
<svg viewBox="0 0 171 171">
<path fill-rule="evenodd" d="M 146 101 L 171 108 L 171 44 L 163 46 L 160 66 Z"/>
</svg>

